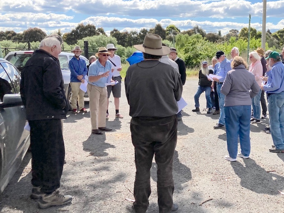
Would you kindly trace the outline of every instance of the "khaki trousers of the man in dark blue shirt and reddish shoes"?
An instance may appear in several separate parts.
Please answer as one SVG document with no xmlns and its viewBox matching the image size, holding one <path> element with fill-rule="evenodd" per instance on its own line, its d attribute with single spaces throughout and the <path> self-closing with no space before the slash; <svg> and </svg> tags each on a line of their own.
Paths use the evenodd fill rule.
<svg viewBox="0 0 284 213">
<path fill-rule="evenodd" d="M 84 94 L 85 92 L 80 89 L 81 82 L 70 82 L 72 98 L 71 98 L 71 108 L 77 109 L 77 99 L 79 109 L 84 108 Z"/>
</svg>

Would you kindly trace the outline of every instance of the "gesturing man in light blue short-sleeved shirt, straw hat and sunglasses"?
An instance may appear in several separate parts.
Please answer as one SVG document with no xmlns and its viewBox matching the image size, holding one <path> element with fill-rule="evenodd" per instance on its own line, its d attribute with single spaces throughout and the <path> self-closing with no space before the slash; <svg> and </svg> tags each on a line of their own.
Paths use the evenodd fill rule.
<svg viewBox="0 0 284 213">
<path fill-rule="evenodd" d="M 102 135 L 102 131 L 112 130 L 105 127 L 105 112 L 108 99 L 105 83 L 111 71 L 111 63 L 108 61 L 109 54 L 111 53 L 105 47 L 100 47 L 95 54 L 99 59 L 89 66 L 87 92 L 90 98 L 92 133 L 97 135 Z"/>
</svg>

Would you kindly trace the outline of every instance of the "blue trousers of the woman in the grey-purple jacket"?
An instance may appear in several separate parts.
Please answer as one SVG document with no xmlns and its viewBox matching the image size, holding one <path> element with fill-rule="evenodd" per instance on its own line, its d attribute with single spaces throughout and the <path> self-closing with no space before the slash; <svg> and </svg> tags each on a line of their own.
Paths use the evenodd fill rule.
<svg viewBox="0 0 284 213">
<path fill-rule="evenodd" d="M 227 147 L 231 158 L 237 158 L 238 137 L 240 137 L 241 152 L 249 156 L 251 152 L 250 119 L 251 106 L 224 107 Z"/>
</svg>

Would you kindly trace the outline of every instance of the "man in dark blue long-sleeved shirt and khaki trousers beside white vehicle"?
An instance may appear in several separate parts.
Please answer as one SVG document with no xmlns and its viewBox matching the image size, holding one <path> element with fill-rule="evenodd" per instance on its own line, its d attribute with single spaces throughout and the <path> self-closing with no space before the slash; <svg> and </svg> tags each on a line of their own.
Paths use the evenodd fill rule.
<svg viewBox="0 0 284 213">
<path fill-rule="evenodd" d="M 85 82 L 85 76 L 87 75 L 88 69 L 85 60 L 80 58 L 81 52 L 83 52 L 81 48 L 76 46 L 74 47 L 74 50 L 71 50 L 71 52 L 74 53 L 73 58 L 69 61 L 69 69 L 71 72 L 70 86 L 72 92 L 72 113 L 78 113 L 77 100 L 80 112 L 86 113 L 87 110 L 84 108 L 85 92 L 80 89 L 80 85 Z"/>
</svg>

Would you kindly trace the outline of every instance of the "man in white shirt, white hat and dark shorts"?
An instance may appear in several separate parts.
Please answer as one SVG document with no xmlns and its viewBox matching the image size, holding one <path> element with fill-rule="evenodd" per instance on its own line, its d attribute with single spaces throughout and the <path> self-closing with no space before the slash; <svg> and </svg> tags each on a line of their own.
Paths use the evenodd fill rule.
<svg viewBox="0 0 284 213">
<path fill-rule="evenodd" d="M 121 76 L 120 71 L 121 68 L 121 59 L 118 55 L 115 55 L 114 52 L 118 48 L 114 47 L 113 44 L 107 45 L 107 50 L 111 54 L 109 55 L 109 61 L 111 62 L 111 68 L 114 69 L 112 73 L 112 79 L 114 81 L 118 81 L 116 85 L 113 86 L 107 86 L 108 91 L 108 100 L 107 100 L 107 111 L 106 111 L 106 119 L 109 119 L 109 97 L 110 93 L 113 92 L 114 97 L 114 106 L 115 106 L 115 117 L 116 118 L 123 118 L 123 116 L 119 113 L 119 98 L 121 96 Z"/>
</svg>

